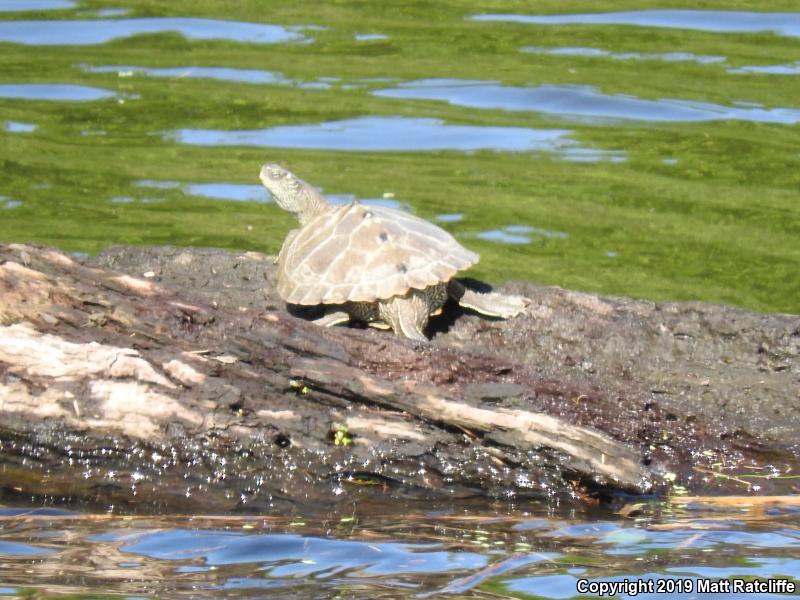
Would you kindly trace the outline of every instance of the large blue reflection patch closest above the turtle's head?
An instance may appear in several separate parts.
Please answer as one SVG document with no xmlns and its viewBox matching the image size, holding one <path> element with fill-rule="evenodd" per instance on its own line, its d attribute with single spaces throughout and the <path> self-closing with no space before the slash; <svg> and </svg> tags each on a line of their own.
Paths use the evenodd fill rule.
<svg viewBox="0 0 800 600">
<path fill-rule="evenodd" d="M 551 152 L 559 158 L 619 157 L 605 150 L 580 148 L 567 129 L 530 129 L 451 125 L 439 119 L 358 117 L 311 125 L 281 125 L 267 129 L 180 129 L 167 134 L 183 144 L 265 146 L 354 151 L 478 150 Z"/>
</svg>

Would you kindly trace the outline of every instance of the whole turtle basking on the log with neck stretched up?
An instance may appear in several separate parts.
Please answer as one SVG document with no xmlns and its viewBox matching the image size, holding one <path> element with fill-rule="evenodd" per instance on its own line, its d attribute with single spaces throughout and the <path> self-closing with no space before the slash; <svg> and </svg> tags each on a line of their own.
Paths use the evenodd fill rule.
<svg viewBox="0 0 800 600">
<path fill-rule="evenodd" d="M 511 318 L 529 300 L 479 293 L 453 279 L 479 256 L 444 229 L 408 212 L 353 201 L 333 205 L 278 164 L 261 167 L 261 182 L 300 228 L 286 236 L 275 262 L 287 304 L 327 305 L 314 322 L 357 320 L 428 341 L 425 328 L 448 298 L 484 315 Z"/>
</svg>

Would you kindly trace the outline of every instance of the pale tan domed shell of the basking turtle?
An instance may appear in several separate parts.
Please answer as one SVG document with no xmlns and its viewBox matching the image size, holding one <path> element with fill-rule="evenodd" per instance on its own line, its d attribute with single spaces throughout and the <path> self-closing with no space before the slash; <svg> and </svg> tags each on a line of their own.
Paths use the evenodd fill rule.
<svg viewBox="0 0 800 600">
<path fill-rule="evenodd" d="M 290 304 L 373 302 L 449 281 L 478 259 L 433 223 L 354 202 L 318 215 L 287 239 L 278 293 Z"/>
</svg>

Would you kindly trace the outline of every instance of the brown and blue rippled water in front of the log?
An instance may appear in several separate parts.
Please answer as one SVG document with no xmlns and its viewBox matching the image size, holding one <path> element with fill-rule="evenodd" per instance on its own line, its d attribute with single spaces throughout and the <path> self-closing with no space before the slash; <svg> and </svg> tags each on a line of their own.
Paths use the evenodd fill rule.
<svg viewBox="0 0 800 600">
<path fill-rule="evenodd" d="M 235 591 L 374 598 L 391 590 L 392 597 L 556 599 L 586 597 L 580 586 L 641 579 L 639 585 L 652 586 L 653 593 L 618 597 L 697 598 L 655 590 L 696 592 L 709 582 L 741 578 L 800 584 L 800 531 L 791 524 L 791 511 L 769 517 L 745 507 L 676 505 L 662 512 L 652 506 L 640 517 L 621 519 L 602 511 L 542 511 L 535 504 L 375 509 L 190 518 L 6 509 L 0 594 L 61 590 L 84 597 L 103 589 L 129 597 L 225 597 Z"/>
</svg>

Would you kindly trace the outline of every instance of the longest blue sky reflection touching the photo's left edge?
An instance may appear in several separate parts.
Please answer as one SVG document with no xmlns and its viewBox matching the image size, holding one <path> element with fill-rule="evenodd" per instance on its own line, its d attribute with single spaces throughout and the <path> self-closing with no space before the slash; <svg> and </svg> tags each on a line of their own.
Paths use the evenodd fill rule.
<svg viewBox="0 0 800 600">
<path fill-rule="evenodd" d="M 281 27 L 216 19 L 151 17 L 74 21 L 3 21 L 0 41 L 32 46 L 92 45 L 146 33 L 175 32 L 190 40 L 253 44 L 310 41 L 302 27 Z"/>
</svg>

